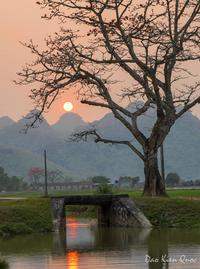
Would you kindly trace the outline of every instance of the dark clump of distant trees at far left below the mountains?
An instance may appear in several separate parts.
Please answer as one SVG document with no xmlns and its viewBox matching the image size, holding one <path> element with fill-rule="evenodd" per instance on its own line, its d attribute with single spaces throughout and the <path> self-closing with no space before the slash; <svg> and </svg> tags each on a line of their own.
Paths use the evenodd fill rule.
<svg viewBox="0 0 200 269">
<path fill-rule="evenodd" d="M 24 182 L 23 178 L 12 176 L 9 177 L 4 171 L 3 167 L 0 167 L 0 192 L 3 191 L 22 191 L 27 190 L 28 184 Z"/>
</svg>

